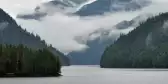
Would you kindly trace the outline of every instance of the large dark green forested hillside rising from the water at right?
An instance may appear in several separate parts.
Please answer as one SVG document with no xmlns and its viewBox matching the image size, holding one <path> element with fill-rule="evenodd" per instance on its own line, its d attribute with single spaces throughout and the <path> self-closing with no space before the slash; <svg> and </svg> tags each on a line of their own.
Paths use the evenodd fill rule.
<svg viewBox="0 0 168 84">
<path fill-rule="evenodd" d="M 102 68 L 168 68 L 168 13 L 149 18 L 104 51 Z"/>
</svg>

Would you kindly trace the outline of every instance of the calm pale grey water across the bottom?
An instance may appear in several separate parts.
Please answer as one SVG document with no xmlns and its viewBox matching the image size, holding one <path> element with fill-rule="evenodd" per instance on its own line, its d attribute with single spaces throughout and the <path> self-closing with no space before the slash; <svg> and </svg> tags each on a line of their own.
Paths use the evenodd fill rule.
<svg viewBox="0 0 168 84">
<path fill-rule="evenodd" d="M 63 77 L 2 78 L 0 84 L 168 84 L 166 69 L 100 69 L 96 66 L 71 66 L 62 69 Z"/>
</svg>

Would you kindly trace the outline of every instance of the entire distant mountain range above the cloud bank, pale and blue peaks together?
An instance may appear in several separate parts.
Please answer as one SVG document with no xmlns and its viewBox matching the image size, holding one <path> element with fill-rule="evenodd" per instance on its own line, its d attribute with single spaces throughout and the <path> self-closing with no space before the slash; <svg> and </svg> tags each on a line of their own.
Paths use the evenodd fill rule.
<svg viewBox="0 0 168 84">
<path fill-rule="evenodd" d="M 41 3 L 32 13 L 18 14 L 17 18 L 41 20 L 57 12 L 79 16 L 102 15 L 107 12 L 135 11 L 150 3 L 149 0 L 52 0 Z"/>
</svg>

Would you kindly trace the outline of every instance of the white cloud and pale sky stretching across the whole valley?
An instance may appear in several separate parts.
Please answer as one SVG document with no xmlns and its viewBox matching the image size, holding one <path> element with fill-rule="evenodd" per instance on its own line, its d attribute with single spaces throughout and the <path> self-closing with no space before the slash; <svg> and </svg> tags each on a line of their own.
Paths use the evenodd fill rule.
<svg viewBox="0 0 168 84">
<path fill-rule="evenodd" d="M 1 0 L 0 7 L 15 18 L 20 12 L 30 12 L 34 10 L 34 8 L 41 2 L 42 0 Z M 98 29 L 104 29 L 110 30 L 111 36 L 118 37 L 120 33 L 128 33 L 133 27 L 122 30 L 116 29 L 113 27 L 114 25 L 123 20 L 132 20 L 138 15 L 156 15 L 160 12 L 167 12 L 167 4 L 167 0 L 152 0 L 151 5 L 138 11 L 121 11 L 113 14 L 107 13 L 105 15 L 92 17 L 68 16 L 63 13 L 55 13 L 52 16 L 42 18 L 41 21 L 15 19 L 19 25 L 26 28 L 29 32 L 39 34 L 47 43 L 52 44 L 64 53 L 68 53 L 88 48 L 85 42 L 81 43 L 76 41 L 75 37 L 77 36 L 82 36 L 82 38 L 87 41 L 90 33 L 93 33 Z M 147 17 L 148 16 L 139 18 L 139 20 L 144 20 Z"/>
</svg>

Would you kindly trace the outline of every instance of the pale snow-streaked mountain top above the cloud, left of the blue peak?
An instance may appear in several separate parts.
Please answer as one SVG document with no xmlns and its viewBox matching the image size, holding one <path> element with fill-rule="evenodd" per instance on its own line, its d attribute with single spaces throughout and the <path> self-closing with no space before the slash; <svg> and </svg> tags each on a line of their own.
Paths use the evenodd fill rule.
<svg viewBox="0 0 168 84">
<path fill-rule="evenodd" d="M 40 20 L 41 18 L 56 12 L 72 14 L 80 4 L 86 1 L 87 0 L 52 0 L 41 3 L 32 13 L 18 14 L 17 18 Z"/>
</svg>

